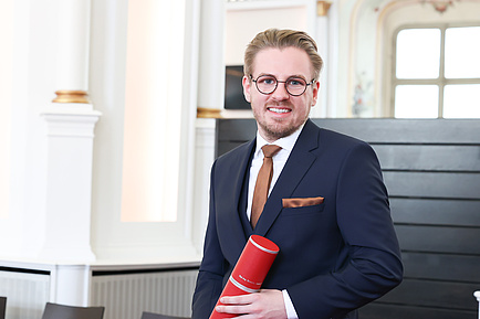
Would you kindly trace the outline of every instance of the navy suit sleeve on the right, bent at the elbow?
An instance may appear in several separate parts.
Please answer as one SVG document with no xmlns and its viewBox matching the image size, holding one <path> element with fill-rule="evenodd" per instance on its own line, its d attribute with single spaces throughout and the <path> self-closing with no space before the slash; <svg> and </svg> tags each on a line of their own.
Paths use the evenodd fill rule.
<svg viewBox="0 0 480 319">
<path fill-rule="evenodd" d="M 347 263 L 288 287 L 300 318 L 343 318 L 401 281 L 388 194 L 372 147 L 362 142 L 347 152 L 336 188 L 337 226 Z"/>
</svg>

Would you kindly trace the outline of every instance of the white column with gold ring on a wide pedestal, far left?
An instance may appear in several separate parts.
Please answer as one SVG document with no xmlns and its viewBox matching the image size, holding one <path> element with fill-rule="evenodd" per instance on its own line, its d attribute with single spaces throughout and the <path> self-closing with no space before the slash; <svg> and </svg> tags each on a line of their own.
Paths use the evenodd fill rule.
<svg viewBox="0 0 480 319">
<path fill-rule="evenodd" d="M 90 0 L 59 1 L 56 98 L 46 120 L 44 243 L 40 257 L 88 263 L 93 138 L 101 114 L 87 98 Z"/>
</svg>

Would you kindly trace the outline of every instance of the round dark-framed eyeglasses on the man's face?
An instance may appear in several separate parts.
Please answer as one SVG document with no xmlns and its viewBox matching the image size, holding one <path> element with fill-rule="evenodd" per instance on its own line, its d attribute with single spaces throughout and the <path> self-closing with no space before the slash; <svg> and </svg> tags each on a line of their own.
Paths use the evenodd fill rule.
<svg viewBox="0 0 480 319">
<path fill-rule="evenodd" d="M 285 89 L 290 95 L 300 96 L 305 93 L 309 85 L 315 82 L 315 79 L 312 79 L 310 83 L 306 83 L 305 79 L 298 76 L 291 76 L 286 81 L 278 81 L 273 75 L 260 75 L 257 79 L 253 79 L 253 76 L 250 74 L 250 78 L 255 83 L 257 89 L 265 95 L 272 94 L 279 86 L 279 83 L 284 83 Z"/>
</svg>

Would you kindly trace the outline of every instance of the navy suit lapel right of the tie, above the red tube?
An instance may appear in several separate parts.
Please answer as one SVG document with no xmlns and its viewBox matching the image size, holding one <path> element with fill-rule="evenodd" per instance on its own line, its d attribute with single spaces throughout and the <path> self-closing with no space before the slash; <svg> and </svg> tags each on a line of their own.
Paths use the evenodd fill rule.
<svg viewBox="0 0 480 319">
<path fill-rule="evenodd" d="M 311 150 L 319 147 L 319 127 L 309 119 L 267 200 L 262 215 L 254 230 L 255 234 L 261 236 L 267 234 L 282 210 L 282 199 L 292 195 L 316 160 L 316 156 Z"/>
</svg>

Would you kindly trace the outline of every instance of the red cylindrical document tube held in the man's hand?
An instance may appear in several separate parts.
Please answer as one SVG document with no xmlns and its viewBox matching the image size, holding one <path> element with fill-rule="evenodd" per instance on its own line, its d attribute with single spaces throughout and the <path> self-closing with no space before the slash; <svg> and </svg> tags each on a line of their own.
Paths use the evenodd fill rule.
<svg viewBox="0 0 480 319">
<path fill-rule="evenodd" d="M 251 235 L 220 298 L 223 296 L 239 296 L 259 291 L 279 251 L 279 246 L 272 241 L 259 235 Z M 222 305 L 220 298 L 216 307 Z M 237 316 L 238 315 L 219 313 L 213 309 L 210 319 L 232 318 Z"/>
</svg>

